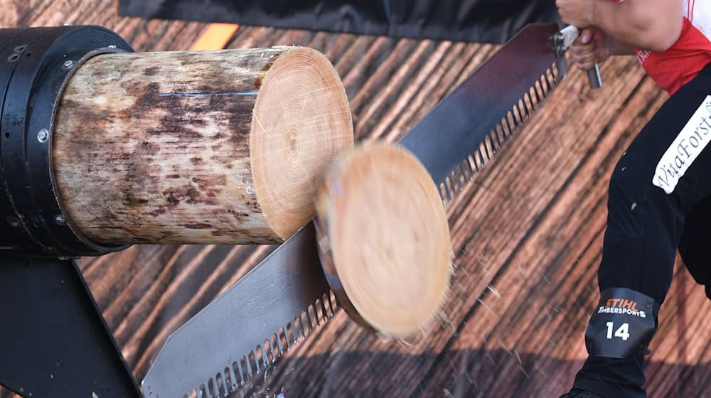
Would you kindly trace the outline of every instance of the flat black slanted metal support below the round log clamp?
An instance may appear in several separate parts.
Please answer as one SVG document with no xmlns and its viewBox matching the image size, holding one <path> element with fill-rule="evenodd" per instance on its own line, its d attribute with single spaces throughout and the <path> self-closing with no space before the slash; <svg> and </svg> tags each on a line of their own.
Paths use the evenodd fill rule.
<svg viewBox="0 0 711 398">
<path fill-rule="evenodd" d="M 0 257 L 0 303 L 4 387 L 23 397 L 141 397 L 73 260 Z"/>
</svg>

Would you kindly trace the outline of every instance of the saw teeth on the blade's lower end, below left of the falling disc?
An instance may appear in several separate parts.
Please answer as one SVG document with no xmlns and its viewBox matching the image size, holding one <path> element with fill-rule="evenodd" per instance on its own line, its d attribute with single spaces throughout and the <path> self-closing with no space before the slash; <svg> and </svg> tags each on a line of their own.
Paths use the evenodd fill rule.
<svg viewBox="0 0 711 398">
<path fill-rule="evenodd" d="M 279 328 L 271 337 L 264 340 L 254 350 L 242 355 L 240 360 L 225 366 L 222 372 L 215 374 L 197 389 L 191 390 L 183 398 L 227 398 L 257 375 L 266 372 L 276 364 L 294 345 L 304 340 L 314 329 L 324 325 L 336 315 L 338 302 L 333 291 L 324 294 L 309 308 L 294 317 L 284 328 Z"/>
</svg>

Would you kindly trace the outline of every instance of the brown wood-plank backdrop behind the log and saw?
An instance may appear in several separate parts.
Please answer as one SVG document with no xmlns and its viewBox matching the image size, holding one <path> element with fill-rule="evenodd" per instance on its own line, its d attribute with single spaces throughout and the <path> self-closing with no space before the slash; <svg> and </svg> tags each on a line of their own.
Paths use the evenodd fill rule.
<svg viewBox="0 0 711 398">
<path fill-rule="evenodd" d="M 136 50 L 190 48 L 205 23 L 117 15 L 116 1 L 0 0 L 0 26 L 92 23 Z M 228 48 L 305 45 L 341 74 L 356 139 L 395 140 L 496 51 L 241 26 Z M 342 311 L 284 357 L 262 392 L 284 397 L 558 397 L 585 357 L 609 176 L 666 99 L 633 58 L 589 90 L 572 70 L 448 212 L 455 276 L 442 321 L 406 343 Z M 169 333 L 274 247 L 134 246 L 80 266 L 137 380 Z M 680 262 L 651 345 L 649 397 L 711 397 L 711 303 Z M 239 336 L 235 336 L 239 338 Z M 255 342 L 256 343 L 256 342 Z M 1 353 L 0 353 L 1 355 Z M 8 396 L 9 393 L 0 393 Z"/>
</svg>

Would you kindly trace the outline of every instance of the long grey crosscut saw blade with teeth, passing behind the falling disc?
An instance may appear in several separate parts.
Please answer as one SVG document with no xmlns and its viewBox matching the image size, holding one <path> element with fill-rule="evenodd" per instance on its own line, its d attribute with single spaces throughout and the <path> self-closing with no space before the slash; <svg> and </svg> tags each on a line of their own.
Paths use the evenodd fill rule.
<svg viewBox="0 0 711 398">
<path fill-rule="evenodd" d="M 398 142 L 444 203 L 493 158 L 565 77 L 555 23 L 529 24 Z M 173 332 L 146 375 L 146 397 L 227 397 L 336 311 L 309 222 Z M 231 395 L 231 394 L 230 394 Z"/>
</svg>

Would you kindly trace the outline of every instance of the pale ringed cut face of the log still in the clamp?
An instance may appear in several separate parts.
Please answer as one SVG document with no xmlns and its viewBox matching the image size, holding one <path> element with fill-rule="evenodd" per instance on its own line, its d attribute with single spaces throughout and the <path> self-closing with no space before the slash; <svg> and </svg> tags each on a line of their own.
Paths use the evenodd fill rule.
<svg viewBox="0 0 711 398">
<path fill-rule="evenodd" d="M 315 176 L 353 145 L 346 90 L 323 54 L 296 48 L 274 61 L 255 102 L 250 159 L 269 227 L 287 239 L 314 217 Z"/>
</svg>

